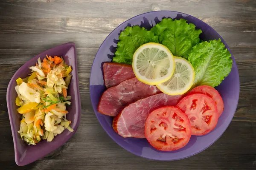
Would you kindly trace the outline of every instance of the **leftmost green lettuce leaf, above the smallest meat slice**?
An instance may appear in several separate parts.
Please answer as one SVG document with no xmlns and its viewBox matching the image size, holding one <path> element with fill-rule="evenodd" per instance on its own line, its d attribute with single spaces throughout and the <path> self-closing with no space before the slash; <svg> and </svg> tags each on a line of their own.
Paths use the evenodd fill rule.
<svg viewBox="0 0 256 170">
<path fill-rule="evenodd" d="M 113 62 L 132 64 L 134 52 L 148 42 L 158 42 L 158 37 L 140 26 L 126 27 L 119 35 Z"/>
</svg>

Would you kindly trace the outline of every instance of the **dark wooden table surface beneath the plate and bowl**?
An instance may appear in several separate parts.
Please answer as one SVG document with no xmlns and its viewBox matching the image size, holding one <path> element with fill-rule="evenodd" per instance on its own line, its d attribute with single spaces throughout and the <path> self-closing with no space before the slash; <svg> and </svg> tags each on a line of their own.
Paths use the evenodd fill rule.
<svg viewBox="0 0 256 170">
<path fill-rule="evenodd" d="M 231 48 L 239 68 L 240 99 L 233 121 L 208 149 L 179 161 L 152 161 L 124 150 L 102 129 L 90 103 L 90 68 L 103 40 L 125 20 L 157 10 L 191 14 L 212 26 Z M 256 169 L 255 0 L 1 0 L 0 40 L 0 169 Z M 36 54 L 70 41 L 78 54 L 80 126 L 49 156 L 18 167 L 6 106 L 9 80 Z"/>
</svg>

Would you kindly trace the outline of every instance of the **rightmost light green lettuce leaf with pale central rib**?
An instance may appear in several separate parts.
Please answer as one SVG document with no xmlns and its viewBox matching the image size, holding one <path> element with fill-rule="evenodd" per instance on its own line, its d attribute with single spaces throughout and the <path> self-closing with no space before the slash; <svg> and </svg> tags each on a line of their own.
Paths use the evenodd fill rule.
<svg viewBox="0 0 256 170">
<path fill-rule="evenodd" d="M 196 45 L 188 60 L 195 69 L 194 85 L 218 86 L 232 68 L 231 54 L 220 39 Z"/>
</svg>

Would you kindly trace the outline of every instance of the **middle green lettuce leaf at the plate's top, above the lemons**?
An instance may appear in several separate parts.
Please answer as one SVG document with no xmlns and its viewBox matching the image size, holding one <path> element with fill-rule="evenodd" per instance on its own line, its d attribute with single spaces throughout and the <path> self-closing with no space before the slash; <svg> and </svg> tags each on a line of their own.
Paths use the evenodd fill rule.
<svg viewBox="0 0 256 170">
<path fill-rule="evenodd" d="M 187 58 L 192 47 L 198 44 L 202 31 L 195 29 L 194 24 L 186 22 L 184 19 L 165 18 L 151 28 L 151 31 L 159 36 L 159 42 L 168 47 L 173 55 Z"/>
</svg>

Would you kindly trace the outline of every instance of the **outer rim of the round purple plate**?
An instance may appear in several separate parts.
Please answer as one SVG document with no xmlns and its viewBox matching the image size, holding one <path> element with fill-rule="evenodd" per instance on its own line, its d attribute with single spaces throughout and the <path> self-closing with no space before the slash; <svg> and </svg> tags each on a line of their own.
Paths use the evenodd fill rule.
<svg viewBox="0 0 256 170">
<path fill-rule="evenodd" d="M 142 16 L 142 15 L 145 15 L 145 14 L 148 14 L 148 13 L 159 13 L 159 12 L 175 12 L 175 13 L 179 13 L 179 14 L 184 14 L 184 15 L 187 15 L 187 16 L 189 16 L 189 17 L 193 17 L 193 18 L 197 19 L 200 23 L 203 23 L 203 24 L 209 26 L 209 25 L 208 25 L 207 23 L 205 23 L 204 21 L 202 21 L 202 20 L 198 19 L 197 17 L 194 17 L 194 16 L 192 16 L 192 15 L 190 15 L 190 14 L 186 14 L 186 13 L 178 12 L 178 11 L 160 10 L 160 11 L 149 11 L 149 12 L 145 12 L 145 13 L 142 13 L 142 14 L 138 14 L 138 15 L 136 15 L 136 16 L 134 16 L 134 17 L 131 17 L 130 19 L 125 20 L 124 22 L 122 22 L 121 24 L 119 24 L 119 26 L 117 26 L 115 29 L 113 29 L 113 31 L 115 31 L 116 29 L 118 29 L 119 27 L 121 27 L 124 23 L 128 22 L 129 20 L 134 19 L 135 17 L 139 17 L 139 16 Z M 161 18 L 161 20 L 162 20 L 162 18 Z M 134 25 L 134 26 L 135 26 L 135 25 Z M 209 26 L 209 28 L 212 28 L 212 27 Z M 232 54 L 230 48 L 228 47 L 227 43 L 224 41 L 224 39 L 221 37 L 221 35 L 218 34 L 217 31 L 215 31 L 215 29 L 212 28 L 212 30 L 221 38 L 221 42 L 226 46 L 227 50 L 228 50 L 228 51 L 230 52 L 230 54 L 231 54 L 231 58 L 235 61 L 235 58 L 233 57 L 233 54 Z M 104 41 L 102 42 L 102 44 L 99 46 L 99 49 L 102 47 L 102 45 L 104 44 L 104 42 L 108 39 L 108 37 L 113 33 L 113 31 L 111 31 L 111 33 L 108 34 L 108 36 L 105 38 L 105 40 L 104 40 Z M 97 51 L 97 53 L 96 53 L 96 55 L 95 55 L 95 57 L 94 57 L 94 59 L 93 59 L 93 63 L 92 63 L 92 66 L 91 66 L 89 86 L 90 86 L 90 84 L 91 84 L 91 77 L 92 77 L 92 68 L 93 68 L 93 64 L 94 64 L 94 62 L 95 62 L 96 56 L 98 55 L 99 49 L 98 49 L 98 51 Z M 233 62 L 233 66 L 234 66 L 235 68 L 237 68 L 236 61 Z M 233 68 L 233 67 L 232 67 L 232 68 Z M 236 70 L 236 72 L 237 72 L 237 74 L 239 75 L 238 69 Z M 238 81 L 239 81 L 239 83 L 238 83 L 239 89 L 238 89 L 238 91 L 237 91 L 237 92 L 238 92 L 238 99 L 237 99 L 237 101 L 236 101 L 236 108 L 237 108 L 237 106 L 238 106 L 239 94 L 240 94 L 240 79 L 239 79 L 239 76 L 238 76 Z M 92 106 L 93 106 L 92 97 L 93 97 L 93 96 L 92 96 L 92 91 L 91 91 L 91 88 L 90 88 L 90 100 L 91 100 L 91 104 L 92 104 Z M 121 146 L 123 149 L 127 150 L 127 151 L 130 152 L 130 153 L 133 153 L 133 154 L 136 155 L 136 156 L 140 156 L 140 157 L 143 157 L 143 158 L 146 158 L 146 159 L 150 159 L 150 160 L 157 160 L 157 161 L 175 161 L 175 160 L 185 159 L 185 158 L 188 158 L 188 157 L 190 157 L 190 156 L 194 156 L 194 155 L 196 155 L 196 154 L 198 154 L 198 153 L 200 153 L 200 152 L 206 150 L 208 147 L 210 147 L 213 143 L 215 143 L 215 142 L 222 136 L 222 134 L 227 130 L 227 127 L 230 125 L 230 123 L 231 123 L 231 121 L 232 121 L 232 119 L 230 119 L 230 121 L 228 121 L 228 123 L 227 123 L 227 127 L 225 128 L 225 130 L 223 130 L 223 132 L 222 132 L 215 140 L 213 140 L 207 147 L 205 147 L 204 149 L 199 150 L 198 152 L 195 152 L 195 153 L 193 153 L 193 154 L 191 154 L 191 155 L 189 155 L 189 156 L 184 156 L 184 157 L 182 157 L 182 158 L 178 158 L 178 159 L 165 159 L 165 160 L 163 160 L 163 159 L 152 159 L 152 158 L 149 158 L 149 157 L 147 157 L 147 156 L 141 156 L 141 155 L 139 155 L 139 154 L 137 154 L 137 153 L 132 152 L 132 151 L 129 150 L 129 149 L 126 149 L 126 148 L 123 146 L 123 144 L 120 144 L 119 142 L 117 142 L 117 140 L 115 139 L 115 137 L 112 136 L 112 135 L 110 134 L 110 132 L 108 132 L 108 130 L 106 130 L 106 128 L 102 125 L 102 122 L 99 120 L 99 115 L 96 114 L 96 112 L 98 112 L 98 111 L 97 111 L 97 108 L 94 108 L 94 106 L 93 106 L 93 111 L 94 111 L 94 113 L 95 113 L 95 115 L 96 115 L 96 117 L 97 117 L 97 119 L 98 119 L 100 125 L 102 126 L 102 128 L 105 130 L 105 132 L 108 134 L 108 136 L 110 136 L 111 139 L 112 139 L 114 142 L 116 142 L 116 144 L 118 144 L 118 145 Z M 236 112 L 233 113 L 233 116 L 234 116 L 235 113 L 236 113 Z"/>
</svg>

